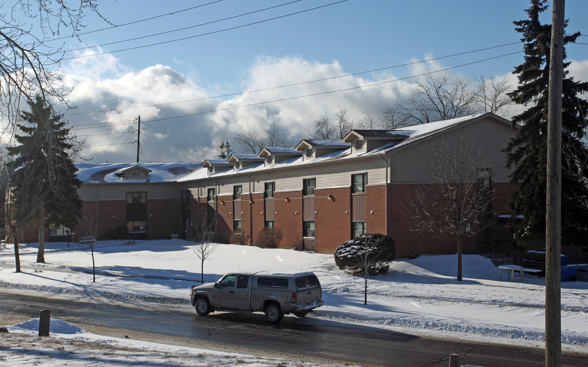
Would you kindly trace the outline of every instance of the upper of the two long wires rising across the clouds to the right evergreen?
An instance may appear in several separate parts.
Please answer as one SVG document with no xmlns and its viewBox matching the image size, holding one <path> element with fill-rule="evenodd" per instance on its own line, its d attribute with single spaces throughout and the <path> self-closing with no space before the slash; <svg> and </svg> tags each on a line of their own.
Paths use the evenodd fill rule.
<svg viewBox="0 0 588 367">
<path fill-rule="evenodd" d="M 135 108 L 157 107 L 157 106 L 164 106 L 164 105 L 180 104 L 180 103 L 185 103 L 185 102 L 198 102 L 198 101 L 205 101 L 207 99 L 216 99 L 216 98 L 224 98 L 224 97 L 235 96 L 235 95 L 243 95 L 243 94 L 250 94 L 250 93 L 256 93 L 256 92 L 265 92 L 265 91 L 271 91 L 273 89 L 287 88 L 289 86 L 298 86 L 298 85 L 310 84 L 310 83 L 315 83 L 315 82 L 323 82 L 323 81 L 328 81 L 328 80 L 332 80 L 332 79 L 346 78 L 348 76 L 355 76 L 355 75 L 360 75 L 360 74 L 368 74 L 368 73 L 371 73 L 371 72 L 384 71 L 384 70 L 387 70 L 387 69 L 400 68 L 401 66 L 410 66 L 410 65 L 415 65 L 415 64 L 422 64 L 423 62 L 429 62 L 429 61 L 435 61 L 435 60 L 450 58 L 450 57 L 454 57 L 454 56 L 461 56 L 461 55 L 466 55 L 466 54 L 472 54 L 473 52 L 487 51 L 489 49 L 499 48 L 499 47 L 503 47 L 503 46 L 516 45 L 516 44 L 520 44 L 520 43 L 521 43 L 520 41 L 510 42 L 509 44 L 502 44 L 502 45 L 490 46 L 490 47 L 486 47 L 486 48 L 479 48 L 479 49 L 475 49 L 473 51 L 459 52 L 457 54 L 446 55 L 446 56 L 439 56 L 439 57 L 432 58 L 432 59 L 407 62 L 406 64 L 399 64 L 399 65 L 394 65 L 394 66 L 386 66 L 384 68 L 372 69 L 372 70 L 368 70 L 368 71 L 360 71 L 360 72 L 355 72 L 355 73 L 352 73 L 352 74 L 332 76 L 330 78 L 315 79 L 315 80 L 306 81 L 306 82 L 299 82 L 299 83 L 286 84 L 286 85 L 280 85 L 280 86 L 272 86 L 272 87 L 269 87 L 269 88 L 255 89 L 254 91 L 242 91 L 242 92 L 236 92 L 236 93 L 230 93 L 230 94 L 216 95 L 216 96 L 211 96 L 211 97 L 186 99 L 184 101 L 166 102 L 166 103 L 153 104 L 153 105 L 132 106 L 132 107 L 123 107 L 123 108 L 114 108 L 114 109 L 104 109 L 104 110 L 101 110 L 101 111 L 91 111 L 91 112 L 76 112 L 75 114 L 66 114 L 66 115 L 67 116 L 74 116 L 74 115 L 98 114 L 98 113 L 102 113 L 102 112 L 123 111 L 123 110 L 126 110 L 126 109 L 135 109 Z"/>
</svg>

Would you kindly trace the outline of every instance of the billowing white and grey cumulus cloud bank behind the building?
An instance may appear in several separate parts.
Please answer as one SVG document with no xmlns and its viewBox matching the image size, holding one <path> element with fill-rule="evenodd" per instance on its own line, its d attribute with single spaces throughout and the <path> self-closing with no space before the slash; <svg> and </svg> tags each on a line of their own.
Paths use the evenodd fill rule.
<svg viewBox="0 0 588 367">
<path fill-rule="evenodd" d="M 159 64 L 134 71 L 112 55 L 75 59 L 62 76 L 73 88 L 70 99 L 78 106 L 66 118 L 79 137 L 87 136 L 86 158 L 134 161 L 140 115 L 142 160 L 201 162 L 215 158 L 218 145 L 227 139 L 239 151 L 233 137 L 244 129 L 262 131 L 276 124 L 287 139 L 298 142 L 320 115 L 333 116 L 339 109 L 347 109 L 355 119 L 365 109 L 377 114 L 410 94 L 407 81 L 390 81 L 442 68 L 437 61 L 427 61 L 397 71 L 402 75 L 385 71 L 345 76 L 347 71 L 338 61 L 262 56 L 246 71 L 242 84 L 232 86 L 243 93 L 224 98 L 198 85 L 196 69 L 191 68 L 191 76 Z M 573 61 L 570 74 L 577 80 L 588 79 L 588 61 Z M 514 88 L 516 77 L 507 76 Z M 276 88 L 280 86 L 284 87 Z M 106 110 L 112 111 L 76 115 Z M 519 110 L 513 108 L 510 115 Z"/>
</svg>

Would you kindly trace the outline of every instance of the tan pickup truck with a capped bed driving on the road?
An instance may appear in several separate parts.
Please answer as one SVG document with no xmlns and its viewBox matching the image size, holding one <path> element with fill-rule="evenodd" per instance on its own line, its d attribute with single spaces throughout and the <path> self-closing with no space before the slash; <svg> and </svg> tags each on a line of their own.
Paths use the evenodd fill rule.
<svg viewBox="0 0 588 367">
<path fill-rule="evenodd" d="M 322 288 L 312 272 L 229 273 L 216 283 L 194 285 L 190 300 L 198 315 L 215 311 L 265 312 L 272 323 L 293 313 L 304 317 L 322 306 Z"/>
</svg>

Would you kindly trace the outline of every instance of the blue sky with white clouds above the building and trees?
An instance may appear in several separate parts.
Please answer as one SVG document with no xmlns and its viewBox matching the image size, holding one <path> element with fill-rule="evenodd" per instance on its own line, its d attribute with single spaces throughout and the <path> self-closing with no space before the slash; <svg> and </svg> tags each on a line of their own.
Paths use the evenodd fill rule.
<svg viewBox="0 0 588 367">
<path fill-rule="evenodd" d="M 86 158 L 99 162 L 133 161 L 136 145 L 131 143 L 133 125 L 129 124 L 139 115 L 145 121 L 144 139 L 149 139 L 142 141 L 145 148 L 142 160 L 202 161 L 213 158 L 221 139 L 232 141 L 235 132 L 242 129 L 259 130 L 275 123 L 290 138 L 300 139 L 321 114 L 330 115 L 346 108 L 352 117 L 360 118 L 363 108 L 377 112 L 386 104 L 402 99 L 409 87 L 399 81 L 259 105 L 263 101 L 406 78 L 425 70 L 472 62 L 476 63 L 452 72 L 467 77 L 499 77 L 508 75 L 522 62 L 522 53 L 477 62 L 522 51 L 522 44 L 515 44 L 323 83 L 217 97 L 517 42 L 520 35 L 512 22 L 526 18 L 524 9 L 529 7 L 526 0 L 337 2 L 302 0 L 278 6 L 287 4 L 288 0 L 102 1 L 102 15 L 114 25 L 202 6 L 151 21 L 82 34 L 81 42 L 71 38 L 54 41 L 65 42 L 65 50 L 103 45 L 66 52 L 66 58 L 168 42 L 64 61 L 61 72 L 66 85 L 75 86 L 71 99 L 78 105 L 74 112 L 78 115 L 69 114 L 68 119 L 76 134 L 82 138 L 88 136 Z M 570 19 L 567 30 L 588 34 L 588 2 L 568 0 L 566 3 L 566 17 Z M 278 7 L 260 11 L 272 6 Z M 323 7 L 310 10 L 319 6 Z M 239 16 L 255 11 L 259 12 Z M 294 14 L 297 12 L 300 13 Z M 233 16 L 238 17 L 219 21 Z M 549 22 L 550 17 L 549 9 L 544 14 L 544 22 Z M 94 15 L 86 16 L 85 21 L 88 25 L 82 32 L 109 26 Z M 105 45 L 208 22 L 213 23 Z M 189 39 L 169 42 L 180 38 Z M 579 42 L 588 43 L 588 37 L 580 37 Z M 573 74 L 582 80 L 588 79 L 587 47 L 569 45 L 566 50 L 568 58 L 574 61 Z M 159 105 L 194 99 L 199 101 Z M 209 112 L 248 104 L 258 105 Z M 132 108 L 136 106 L 149 107 Z M 80 114 L 107 109 L 118 111 Z M 101 128 L 79 129 L 84 125 Z M 125 144 L 121 144 L 123 141 Z M 239 150 L 236 143 L 232 145 Z"/>
</svg>

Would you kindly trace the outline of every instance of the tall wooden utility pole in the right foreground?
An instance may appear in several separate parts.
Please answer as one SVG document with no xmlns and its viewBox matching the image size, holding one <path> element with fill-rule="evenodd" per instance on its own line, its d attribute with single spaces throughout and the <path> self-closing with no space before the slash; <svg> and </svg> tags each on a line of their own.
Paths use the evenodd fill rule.
<svg viewBox="0 0 588 367">
<path fill-rule="evenodd" d="M 547 102 L 545 366 L 562 359 L 562 84 L 565 0 L 553 0 Z"/>
</svg>

